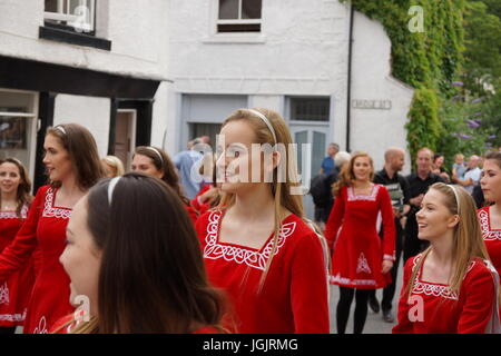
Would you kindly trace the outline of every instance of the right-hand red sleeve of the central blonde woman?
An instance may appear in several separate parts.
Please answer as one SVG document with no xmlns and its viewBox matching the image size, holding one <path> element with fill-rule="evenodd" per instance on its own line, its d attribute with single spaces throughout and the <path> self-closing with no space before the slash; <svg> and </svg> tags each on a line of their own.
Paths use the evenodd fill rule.
<svg viewBox="0 0 501 356">
<path fill-rule="evenodd" d="M 301 237 L 292 261 L 291 303 L 297 334 L 328 334 L 327 276 L 314 234 Z"/>
</svg>

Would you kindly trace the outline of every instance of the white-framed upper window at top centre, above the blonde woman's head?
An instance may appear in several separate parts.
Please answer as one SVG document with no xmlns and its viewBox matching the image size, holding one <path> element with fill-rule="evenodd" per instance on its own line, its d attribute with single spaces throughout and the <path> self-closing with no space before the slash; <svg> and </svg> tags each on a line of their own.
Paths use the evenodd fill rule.
<svg viewBox="0 0 501 356">
<path fill-rule="evenodd" d="M 217 32 L 261 32 L 262 0 L 218 0 Z"/>
</svg>

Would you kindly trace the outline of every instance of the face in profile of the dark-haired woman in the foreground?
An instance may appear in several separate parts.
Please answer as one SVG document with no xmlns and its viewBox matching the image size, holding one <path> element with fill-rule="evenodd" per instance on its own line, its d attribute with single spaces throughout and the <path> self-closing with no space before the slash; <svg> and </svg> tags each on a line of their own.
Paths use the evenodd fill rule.
<svg viewBox="0 0 501 356">
<path fill-rule="evenodd" d="M 87 227 L 87 196 L 75 205 L 66 235 L 67 245 L 59 261 L 71 280 L 70 303 L 79 306 L 88 300 L 90 315 L 96 315 L 101 253 Z"/>
</svg>

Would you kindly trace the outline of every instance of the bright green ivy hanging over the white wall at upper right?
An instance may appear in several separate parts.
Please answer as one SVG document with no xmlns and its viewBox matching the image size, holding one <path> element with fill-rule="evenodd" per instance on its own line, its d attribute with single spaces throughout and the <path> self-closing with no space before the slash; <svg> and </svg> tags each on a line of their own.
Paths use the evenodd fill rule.
<svg viewBox="0 0 501 356">
<path fill-rule="evenodd" d="M 347 2 L 347 0 L 340 0 Z M 443 130 L 440 100 L 454 93 L 463 51 L 464 0 L 351 0 L 356 11 L 381 22 L 392 42 L 392 76 L 414 87 L 409 112 L 407 148 L 435 150 Z M 423 10 L 423 31 L 411 32 L 409 10 Z"/>
</svg>

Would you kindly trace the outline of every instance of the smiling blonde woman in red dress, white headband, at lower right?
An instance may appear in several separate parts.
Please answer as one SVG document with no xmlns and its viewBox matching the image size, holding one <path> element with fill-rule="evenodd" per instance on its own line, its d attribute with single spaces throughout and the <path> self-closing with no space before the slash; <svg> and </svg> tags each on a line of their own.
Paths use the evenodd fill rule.
<svg viewBox="0 0 501 356">
<path fill-rule="evenodd" d="M 489 261 L 472 197 L 459 186 L 432 185 L 416 214 L 430 241 L 407 260 L 395 334 L 499 333 L 499 276 Z"/>
</svg>

